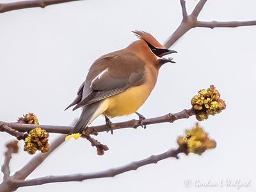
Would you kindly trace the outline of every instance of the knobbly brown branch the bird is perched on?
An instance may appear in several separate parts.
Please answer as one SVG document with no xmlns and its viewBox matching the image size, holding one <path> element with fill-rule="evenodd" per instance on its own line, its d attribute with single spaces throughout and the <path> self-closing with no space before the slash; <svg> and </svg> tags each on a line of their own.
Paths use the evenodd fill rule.
<svg viewBox="0 0 256 192">
<path fill-rule="evenodd" d="M 189 116 L 195 115 L 194 110 L 191 109 L 184 109 L 183 111 L 180 111 L 179 113 L 168 113 L 167 115 L 163 116 L 157 116 L 154 118 L 147 118 L 145 120 L 142 120 L 143 125 L 150 125 L 150 124 L 159 124 L 164 122 L 170 122 L 173 123 L 175 120 L 179 120 L 182 118 L 189 118 Z M 84 134 L 89 135 L 93 134 L 95 132 L 104 132 L 104 131 L 111 131 L 115 129 L 124 129 L 124 128 L 137 128 L 141 125 L 140 120 L 129 120 L 126 122 L 120 122 L 116 124 L 111 124 L 111 127 L 113 129 L 110 129 L 108 125 L 97 125 L 97 126 L 91 126 L 87 127 L 86 131 L 84 131 Z M 56 126 L 56 125 L 31 125 L 31 124 L 13 124 L 13 123 L 4 123 L 13 129 L 20 131 L 20 132 L 28 132 L 31 129 L 35 129 L 36 127 L 40 127 L 41 129 L 45 129 L 47 132 L 55 132 L 55 133 L 63 133 L 68 134 L 72 129 L 73 126 Z"/>
</svg>

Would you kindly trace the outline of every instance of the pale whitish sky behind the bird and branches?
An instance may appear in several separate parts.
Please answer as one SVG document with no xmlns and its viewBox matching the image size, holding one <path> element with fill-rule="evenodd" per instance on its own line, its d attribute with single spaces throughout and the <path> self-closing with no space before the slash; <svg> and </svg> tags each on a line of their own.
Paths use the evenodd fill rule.
<svg viewBox="0 0 256 192">
<path fill-rule="evenodd" d="M 10 1 L 1 1 L 8 3 Z M 188 11 L 198 1 L 187 1 Z M 256 19 L 255 0 L 214 0 L 205 4 L 200 20 Z M 178 0 L 88 0 L 0 14 L 0 120 L 13 122 L 27 112 L 40 124 L 69 125 L 80 110 L 64 111 L 76 97 L 90 64 L 102 54 L 122 49 L 136 40 L 131 33 L 142 29 L 164 42 L 182 19 Z M 227 103 L 220 115 L 200 124 L 217 141 L 216 149 L 203 156 L 180 155 L 143 166 L 109 179 L 45 184 L 18 191 L 237 191 L 236 188 L 190 188 L 184 180 L 202 182 L 221 179 L 250 181 L 256 189 L 255 168 L 255 34 L 256 27 L 196 28 L 172 49 L 177 64 L 166 64 L 156 88 L 139 112 L 146 117 L 190 108 L 198 90 L 214 84 Z M 114 118 L 113 122 L 136 118 Z M 148 125 L 146 130 L 123 129 L 100 133 L 108 145 L 104 156 L 86 140 L 70 140 L 33 172 L 29 179 L 105 170 L 175 148 L 176 138 L 195 124 L 195 117 L 174 124 Z M 99 117 L 93 125 L 104 124 Z M 0 133 L 0 152 L 12 136 Z M 50 140 L 56 135 L 51 134 Z M 14 173 L 32 156 L 13 155 Z M 3 155 L 0 156 L 3 164 Z M 0 178 L 3 174 L 0 173 Z M 193 184 L 192 184 L 193 185 Z"/>
</svg>

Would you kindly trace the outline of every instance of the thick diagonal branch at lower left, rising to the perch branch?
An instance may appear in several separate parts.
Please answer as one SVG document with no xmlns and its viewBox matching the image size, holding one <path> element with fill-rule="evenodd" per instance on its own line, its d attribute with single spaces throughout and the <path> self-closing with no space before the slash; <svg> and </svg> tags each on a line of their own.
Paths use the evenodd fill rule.
<svg viewBox="0 0 256 192">
<path fill-rule="evenodd" d="M 44 154 L 38 154 L 33 157 L 23 168 L 17 171 L 12 178 L 13 179 L 26 179 L 30 173 L 32 173 L 57 147 L 59 147 L 65 141 L 65 134 L 51 143 L 49 152 Z"/>
</svg>

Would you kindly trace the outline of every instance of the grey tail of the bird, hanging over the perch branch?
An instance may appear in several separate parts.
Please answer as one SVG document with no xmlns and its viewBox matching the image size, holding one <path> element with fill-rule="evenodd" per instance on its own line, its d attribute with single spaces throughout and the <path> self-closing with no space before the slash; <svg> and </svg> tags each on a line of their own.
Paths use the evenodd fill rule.
<svg viewBox="0 0 256 192">
<path fill-rule="evenodd" d="M 79 120 L 77 121 L 72 131 L 69 132 L 69 134 L 82 133 L 84 128 L 87 127 L 94 120 L 93 116 L 95 115 L 95 112 L 99 108 L 99 105 L 100 105 L 100 102 L 95 102 L 88 106 L 84 106 L 83 111 L 79 117 Z M 95 116 L 95 118 L 96 117 L 97 116 Z"/>
</svg>

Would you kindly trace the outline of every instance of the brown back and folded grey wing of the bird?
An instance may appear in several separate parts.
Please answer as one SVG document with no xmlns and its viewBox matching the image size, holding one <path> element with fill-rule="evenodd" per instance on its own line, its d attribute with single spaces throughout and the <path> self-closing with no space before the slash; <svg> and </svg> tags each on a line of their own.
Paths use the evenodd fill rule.
<svg viewBox="0 0 256 192">
<path fill-rule="evenodd" d="M 144 82 L 145 63 L 138 56 L 129 52 L 113 52 L 93 63 L 70 106 L 77 104 L 74 109 L 81 108 Z"/>
</svg>

